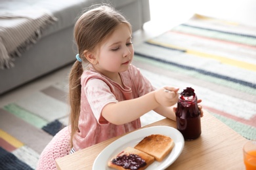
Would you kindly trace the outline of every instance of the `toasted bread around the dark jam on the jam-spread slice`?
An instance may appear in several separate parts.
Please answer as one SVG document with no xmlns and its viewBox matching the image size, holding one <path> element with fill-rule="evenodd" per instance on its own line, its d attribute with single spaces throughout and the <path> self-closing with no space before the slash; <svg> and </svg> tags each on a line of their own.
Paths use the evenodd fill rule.
<svg viewBox="0 0 256 170">
<path fill-rule="evenodd" d="M 120 152 L 119 154 L 117 154 L 116 156 L 114 156 L 110 161 L 108 161 L 108 167 L 112 167 L 114 169 L 123 169 L 123 170 L 127 170 L 129 168 L 125 168 L 125 167 L 122 167 L 122 165 L 117 165 L 116 163 L 114 163 L 114 161 L 117 161 L 118 159 L 116 158 L 122 158 L 122 156 L 139 156 L 144 163 L 144 165 L 142 167 L 139 167 L 138 170 L 142 170 L 142 169 L 146 169 L 146 167 L 148 167 L 151 163 L 154 162 L 154 157 L 153 156 L 150 156 L 144 152 L 141 152 L 140 150 L 137 150 L 135 148 L 132 148 L 132 147 L 127 147 L 125 148 L 125 150 L 123 150 L 122 152 Z M 134 157 L 133 157 L 134 158 Z M 141 160 L 140 159 L 140 160 Z M 140 161 L 139 160 L 139 161 Z M 133 162 L 136 162 L 136 161 L 133 161 Z M 127 164 L 131 164 L 131 163 L 127 163 Z"/>
</svg>

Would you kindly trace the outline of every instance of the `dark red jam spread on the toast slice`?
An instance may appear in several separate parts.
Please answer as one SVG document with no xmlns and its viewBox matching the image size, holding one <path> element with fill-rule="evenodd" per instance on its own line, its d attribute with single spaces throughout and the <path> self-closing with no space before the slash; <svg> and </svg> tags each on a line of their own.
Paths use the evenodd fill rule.
<svg viewBox="0 0 256 170">
<path fill-rule="evenodd" d="M 121 156 L 117 156 L 117 158 L 112 160 L 112 163 L 125 169 L 139 169 L 140 167 L 146 166 L 146 161 L 137 154 L 123 154 Z"/>
</svg>

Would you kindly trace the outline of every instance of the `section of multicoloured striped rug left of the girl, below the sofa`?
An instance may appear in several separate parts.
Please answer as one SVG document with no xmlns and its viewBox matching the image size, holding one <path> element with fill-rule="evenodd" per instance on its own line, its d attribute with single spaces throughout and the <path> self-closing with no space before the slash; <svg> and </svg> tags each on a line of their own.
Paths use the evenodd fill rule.
<svg viewBox="0 0 256 170">
<path fill-rule="evenodd" d="M 0 169 L 36 168 L 45 146 L 68 125 L 67 84 L 53 84 L 0 109 Z"/>
</svg>

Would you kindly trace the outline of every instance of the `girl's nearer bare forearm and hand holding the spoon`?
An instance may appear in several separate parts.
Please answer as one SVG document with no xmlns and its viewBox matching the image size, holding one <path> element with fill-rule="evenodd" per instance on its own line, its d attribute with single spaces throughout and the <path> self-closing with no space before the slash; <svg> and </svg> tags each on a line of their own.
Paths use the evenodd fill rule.
<svg viewBox="0 0 256 170">
<path fill-rule="evenodd" d="M 165 92 L 165 89 L 171 92 Z M 102 109 L 102 116 L 112 124 L 132 122 L 150 110 L 162 108 L 160 106 L 170 107 L 177 103 L 178 90 L 173 87 L 165 87 L 136 99 L 109 103 Z"/>
</svg>

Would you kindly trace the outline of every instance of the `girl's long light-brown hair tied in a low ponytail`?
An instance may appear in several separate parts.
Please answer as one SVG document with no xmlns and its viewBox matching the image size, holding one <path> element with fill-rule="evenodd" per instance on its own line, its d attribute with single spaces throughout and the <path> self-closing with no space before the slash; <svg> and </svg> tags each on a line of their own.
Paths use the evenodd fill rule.
<svg viewBox="0 0 256 170">
<path fill-rule="evenodd" d="M 83 56 L 83 52 L 85 50 L 95 52 L 100 43 L 110 36 L 117 25 L 121 23 L 127 24 L 131 29 L 129 22 L 127 22 L 127 20 L 125 20 L 125 18 L 110 5 L 94 5 L 93 8 L 79 17 L 75 24 L 74 37 L 78 48 L 78 54 L 82 59 L 83 65 L 88 66 L 89 64 L 89 61 Z M 81 107 L 82 62 L 75 61 L 69 77 L 70 142 L 72 145 L 72 138 L 75 132 L 79 131 L 78 120 Z"/>
</svg>

